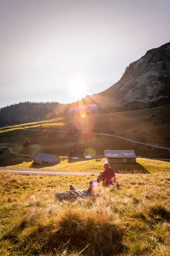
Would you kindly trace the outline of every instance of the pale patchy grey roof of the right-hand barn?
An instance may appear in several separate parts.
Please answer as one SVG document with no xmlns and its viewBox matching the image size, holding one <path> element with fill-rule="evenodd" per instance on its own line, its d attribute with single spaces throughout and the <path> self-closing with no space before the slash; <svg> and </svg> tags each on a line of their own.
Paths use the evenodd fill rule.
<svg viewBox="0 0 170 256">
<path fill-rule="evenodd" d="M 105 150 L 105 157 L 113 158 L 134 158 L 136 157 L 134 150 Z"/>
</svg>

